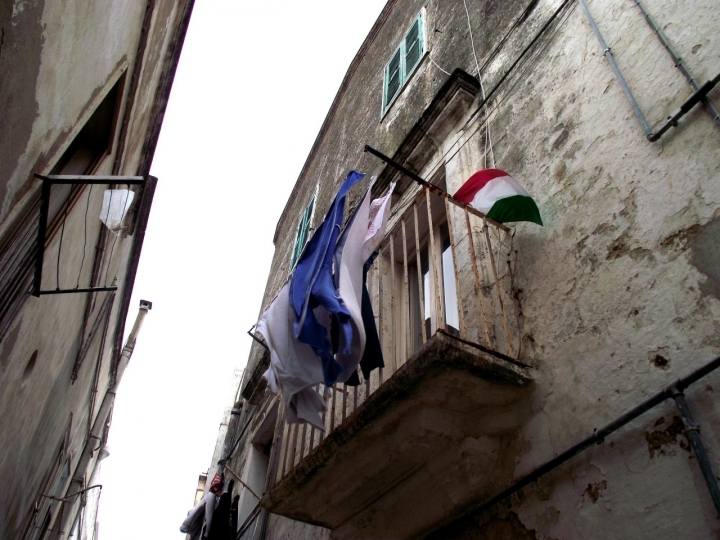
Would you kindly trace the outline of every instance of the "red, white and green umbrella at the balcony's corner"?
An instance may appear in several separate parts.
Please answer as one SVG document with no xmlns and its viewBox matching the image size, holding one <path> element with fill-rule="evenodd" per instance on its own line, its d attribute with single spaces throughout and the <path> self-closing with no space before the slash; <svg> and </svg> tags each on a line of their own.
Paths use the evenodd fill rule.
<svg viewBox="0 0 720 540">
<path fill-rule="evenodd" d="M 531 221 L 542 225 L 537 204 L 517 180 L 500 169 L 481 169 L 453 195 L 487 217 L 507 223 Z"/>
</svg>

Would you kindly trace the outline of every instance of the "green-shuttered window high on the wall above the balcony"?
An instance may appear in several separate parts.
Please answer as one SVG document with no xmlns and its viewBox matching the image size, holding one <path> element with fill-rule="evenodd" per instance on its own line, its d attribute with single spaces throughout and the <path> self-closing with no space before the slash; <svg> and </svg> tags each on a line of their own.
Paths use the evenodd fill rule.
<svg viewBox="0 0 720 540">
<path fill-rule="evenodd" d="M 387 112 L 403 85 L 410 79 L 425 54 L 425 9 L 413 21 L 400 46 L 385 66 L 383 114 Z"/>
</svg>

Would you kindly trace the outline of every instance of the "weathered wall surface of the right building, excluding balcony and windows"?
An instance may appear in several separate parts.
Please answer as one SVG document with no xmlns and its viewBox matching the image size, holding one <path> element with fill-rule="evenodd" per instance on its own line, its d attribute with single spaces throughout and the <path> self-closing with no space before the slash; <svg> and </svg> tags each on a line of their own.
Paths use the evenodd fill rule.
<svg viewBox="0 0 720 540">
<path fill-rule="evenodd" d="M 490 58 L 529 4 L 468 3 L 478 63 L 490 60 L 486 90 L 560 2 L 533 3 Z M 700 84 L 717 74 L 714 3 L 644 4 Z M 280 218 L 263 307 L 287 277 L 297 220 L 316 184 L 315 226 L 347 170 L 382 169 L 363 155 L 363 145 L 392 155 L 447 79 L 426 56 L 380 117 L 383 68 L 423 6 L 437 65 L 476 72 L 462 2 L 388 3 Z M 590 9 L 648 122 L 659 127 L 691 95 L 687 81 L 632 2 L 596 1 Z M 710 97 L 719 103 L 720 91 Z M 515 458 L 518 478 L 720 353 L 720 130 L 697 107 L 649 143 L 574 2 L 511 73 L 488 112 L 495 165 L 528 189 L 545 222 L 513 226 L 521 358 L 536 368 L 532 415 Z M 483 166 L 484 142 L 472 135 L 482 118 L 456 135 L 469 142 L 443 158 L 450 191 Z M 454 142 L 439 141 L 439 151 Z M 412 165 L 423 174 L 431 170 Z M 255 346 L 250 369 L 259 356 Z M 714 374 L 687 392 L 716 471 L 719 384 Z M 462 518 L 433 537 L 716 538 L 720 525 L 676 416 L 665 403 L 493 513 Z"/>
</svg>

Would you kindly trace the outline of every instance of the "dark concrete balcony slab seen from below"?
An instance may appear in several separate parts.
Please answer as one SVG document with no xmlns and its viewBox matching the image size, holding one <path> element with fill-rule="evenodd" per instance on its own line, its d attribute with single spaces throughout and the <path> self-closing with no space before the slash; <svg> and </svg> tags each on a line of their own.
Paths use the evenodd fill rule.
<svg viewBox="0 0 720 540">
<path fill-rule="evenodd" d="M 333 537 L 412 538 L 513 477 L 530 368 L 444 332 L 263 497 Z"/>
</svg>

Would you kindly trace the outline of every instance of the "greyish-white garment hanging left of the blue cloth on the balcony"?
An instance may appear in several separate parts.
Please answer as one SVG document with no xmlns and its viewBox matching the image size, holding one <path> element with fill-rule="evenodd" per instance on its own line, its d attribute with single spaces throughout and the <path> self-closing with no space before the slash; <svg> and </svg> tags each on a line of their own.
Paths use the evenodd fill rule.
<svg viewBox="0 0 720 540">
<path fill-rule="evenodd" d="M 270 368 L 263 377 L 271 392 L 282 394 L 288 422 L 308 422 L 324 431 L 320 413 L 327 407 L 314 389 L 323 381 L 322 363 L 310 346 L 295 337 L 289 294 L 286 283 L 257 324 L 270 349 Z"/>
</svg>

